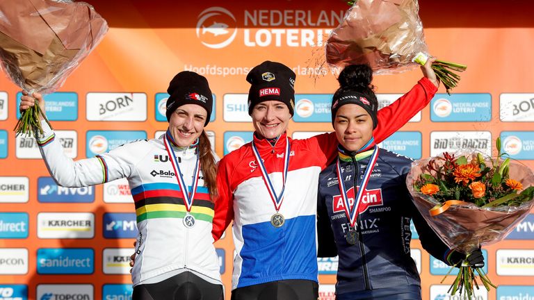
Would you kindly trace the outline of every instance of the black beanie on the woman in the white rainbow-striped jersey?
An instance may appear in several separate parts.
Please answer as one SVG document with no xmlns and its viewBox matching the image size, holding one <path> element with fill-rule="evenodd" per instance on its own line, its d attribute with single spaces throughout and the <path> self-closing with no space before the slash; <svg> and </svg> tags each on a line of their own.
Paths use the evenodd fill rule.
<svg viewBox="0 0 534 300">
<path fill-rule="evenodd" d="M 170 81 L 167 93 L 170 95 L 167 99 L 167 112 L 165 113 L 167 122 L 170 121 L 170 115 L 179 106 L 196 104 L 202 106 L 208 112 L 204 126 L 209 123 L 213 95 L 204 76 L 189 71 L 179 72 Z"/>
</svg>

